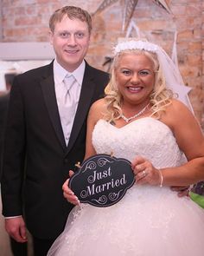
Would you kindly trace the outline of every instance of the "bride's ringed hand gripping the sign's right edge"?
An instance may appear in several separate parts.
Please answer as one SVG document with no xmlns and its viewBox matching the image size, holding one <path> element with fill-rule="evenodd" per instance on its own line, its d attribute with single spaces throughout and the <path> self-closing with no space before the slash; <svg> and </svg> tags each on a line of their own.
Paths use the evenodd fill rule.
<svg viewBox="0 0 204 256">
<path fill-rule="evenodd" d="M 135 174 L 135 180 L 137 184 L 150 184 L 161 185 L 162 177 L 161 171 L 156 169 L 150 161 L 137 156 L 131 163 L 133 173 Z"/>
</svg>

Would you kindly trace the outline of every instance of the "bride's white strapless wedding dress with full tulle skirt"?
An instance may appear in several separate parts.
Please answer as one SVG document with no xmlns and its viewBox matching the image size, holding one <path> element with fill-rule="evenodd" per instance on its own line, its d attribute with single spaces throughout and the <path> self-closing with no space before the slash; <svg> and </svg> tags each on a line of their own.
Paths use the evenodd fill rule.
<svg viewBox="0 0 204 256">
<path fill-rule="evenodd" d="M 92 143 L 98 154 L 143 155 L 158 168 L 185 161 L 169 127 L 150 117 L 123 128 L 99 120 Z M 201 207 L 169 187 L 134 184 L 111 207 L 74 207 L 48 256 L 203 256 L 203 241 Z"/>
</svg>

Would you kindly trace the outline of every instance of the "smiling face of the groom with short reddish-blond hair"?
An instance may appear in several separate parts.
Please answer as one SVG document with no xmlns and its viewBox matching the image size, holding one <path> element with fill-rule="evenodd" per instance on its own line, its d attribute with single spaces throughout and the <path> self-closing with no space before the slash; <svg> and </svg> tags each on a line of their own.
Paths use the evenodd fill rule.
<svg viewBox="0 0 204 256">
<path fill-rule="evenodd" d="M 88 24 L 79 19 L 64 16 L 50 31 L 57 62 L 69 72 L 77 69 L 83 61 L 90 42 Z"/>
</svg>

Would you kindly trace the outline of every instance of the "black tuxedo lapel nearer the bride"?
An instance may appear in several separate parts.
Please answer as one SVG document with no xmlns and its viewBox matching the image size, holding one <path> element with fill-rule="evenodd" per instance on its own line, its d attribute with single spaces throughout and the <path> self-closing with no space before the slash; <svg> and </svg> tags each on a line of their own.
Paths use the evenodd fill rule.
<svg viewBox="0 0 204 256">
<path fill-rule="evenodd" d="M 67 145 L 67 154 L 73 147 L 73 144 L 80 133 L 80 128 L 82 127 L 84 121 L 86 120 L 86 116 L 88 115 L 88 111 L 92 101 L 92 95 L 96 86 L 93 82 L 92 75 L 92 69 L 86 63 L 85 75 L 80 92 L 80 101 L 73 121 L 73 128 L 70 139 Z"/>
</svg>

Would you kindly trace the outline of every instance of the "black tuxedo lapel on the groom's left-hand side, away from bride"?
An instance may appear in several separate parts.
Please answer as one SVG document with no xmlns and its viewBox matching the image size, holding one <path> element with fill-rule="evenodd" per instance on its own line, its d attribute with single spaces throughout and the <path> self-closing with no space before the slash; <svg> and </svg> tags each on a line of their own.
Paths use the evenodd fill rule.
<svg viewBox="0 0 204 256">
<path fill-rule="evenodd" d="M 41 90 L 44 96 L 46 106 L 48 108 L 48 115 L 52 121 L 55 133 L 61 142 L 61 146 L 66 148 L 63 131 L 61 128 L 61 119 L 57 107 L 56 95 L 54 90 L 54 75 L 53 72 L 41 81 Z"/>
</svg>

